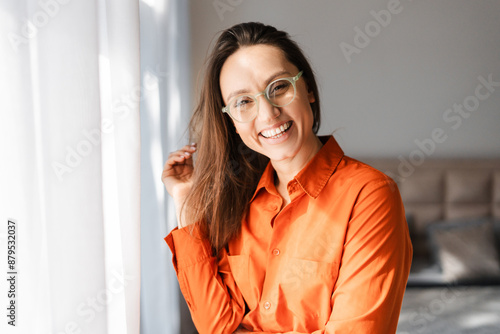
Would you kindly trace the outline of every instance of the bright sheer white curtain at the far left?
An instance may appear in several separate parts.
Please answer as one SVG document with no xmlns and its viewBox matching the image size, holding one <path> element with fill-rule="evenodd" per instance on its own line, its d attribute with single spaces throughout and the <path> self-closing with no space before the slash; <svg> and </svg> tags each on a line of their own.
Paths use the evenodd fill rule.
<svg viewBox="0 0 500 334">
<path fill-rule="evenodd" d="M 138 0 L 2 0 L 0 36 L 0 332 L 138 333 Z"/>
</svg>

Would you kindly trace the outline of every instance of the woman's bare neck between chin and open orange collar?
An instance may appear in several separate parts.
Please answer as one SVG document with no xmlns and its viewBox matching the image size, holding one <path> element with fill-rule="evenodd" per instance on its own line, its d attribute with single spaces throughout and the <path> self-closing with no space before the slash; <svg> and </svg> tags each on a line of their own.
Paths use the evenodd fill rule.
<svg viewBox="0 0 500 334">
<path fill-rule="evenodd" d="M 310 140 L 304 143 L 304 146 L 294 157 L 281 161 L 271 161 L 277 176 L 275 179 L 276 188 L 285 200 L 288 198 L 286 189 L 288 182 L 307 165 L 316 153 L 318 153 L 322 145 L 319 138 L 313 135 Z"/>
</svg>

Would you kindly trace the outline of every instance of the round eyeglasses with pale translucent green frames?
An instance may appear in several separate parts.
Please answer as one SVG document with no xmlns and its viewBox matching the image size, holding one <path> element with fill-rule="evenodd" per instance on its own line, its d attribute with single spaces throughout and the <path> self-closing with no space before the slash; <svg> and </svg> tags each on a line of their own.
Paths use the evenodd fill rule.
<svg viewBox="0 0 500 334">
<path fill-rule="evenodd" d="M 222 108 L 223 113 L 228 113 L 235 121 L 247 123 L 253 121 L 259 112 L 257 97 L 264 95 L 266 100 L 275 107 L 284 107 L 295 99 L 297 89 L 295 82 L 299 80 L 303 71 L 296 76 L 280 78 L 271 82 L 264 91 L 255 95 L 238 95 L 233 97 L 227 106 Z"/>
</svg>

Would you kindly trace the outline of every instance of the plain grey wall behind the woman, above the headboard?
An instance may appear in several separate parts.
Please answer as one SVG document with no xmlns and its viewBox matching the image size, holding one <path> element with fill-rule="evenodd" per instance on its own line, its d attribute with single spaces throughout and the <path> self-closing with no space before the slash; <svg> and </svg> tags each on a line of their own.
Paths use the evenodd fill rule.
<svg viewBox="0 0 500 334">
<path fill-rule="evenodd" d="M 192 82 L 215 34 L 260 21 L 289 32 L 303 47 L 321 89 L 320 134 L 334 130 L 354 157 L 410 157 L 426 140 L 425 157 L 500 157 L 500 84 L 475 100 L 479 76 L 500 82 L 500 1 L 191 0 Z M 371 11 L 393 9 L 385 27 Z M 396 13 L 397 12 L 397 13 Z M 376 22 L 376 21 L 375 21 Z M 355 27 L 375 33 L 347 61 L 341 43 Z M 194 87 L 194 84 L 193 84 Z M 194 90 L 193 90 L 194 91 Z M 480 94 L 489 93 L 485 88 Z M 193 94 L 193 100 L 195 96 Z M 468 118 L 447 114 L 479 101 Z M 473 106 L 474 107 L 474 106 Z M 455 117 L 445 121 L 444 117 Z M 460 124 L 458 122 L 461 122 Z M 453 128 L 454 126 L 455 128 Z M 431 143 L 437 133 L 439 143 Z M 435 146 L 435 150 L 432 150 Z"/>
</svg>

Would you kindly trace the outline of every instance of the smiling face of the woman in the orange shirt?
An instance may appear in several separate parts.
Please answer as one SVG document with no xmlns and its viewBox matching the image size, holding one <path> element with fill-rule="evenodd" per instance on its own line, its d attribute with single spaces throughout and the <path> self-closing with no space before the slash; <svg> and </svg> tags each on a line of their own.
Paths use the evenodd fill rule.
<svg viewBox="0 0 500 334">
<path fill-rule="evenodd" d="M 288 98 L 278 105 L 255 103 L 255 106 L 251 106 L 255 110 L 252 120 L 241 122 L 234 116 L 233 120 L 236 131 L 248 147 L 270 158 L 275 169 L 292 169 L 296 173 L 304 167 L 308 158 L 318 152 L 321 143 L 312 130 L 314 116 L 311 103 L 315 101 L 314 93 L 308 90 L 304 80 L 284 78 L 292 73 L 295 75 L 301 72 L 286 59 L 278 47 L 266 44 L 246 46 L 232 54 L 222 66 L 220 87 L 224 101 L 229 101 L 229 113 L 232 115 L 233 109 L 242 108 L 229 100 L 236 95 L 235 92 L 255 92 L 262 89 L 263 84 L 275 79 L 278 79 L 278 83 L 290 83 L 288 80 L 294 83 L 293 86 L 290 83 L 288 87 L 283 87 L 284 84 L 274 87 L 276 81 L 271 82 L 263 94 L 269 102 L 277 99 L 276 94 L 279 97 L 286 95 Z M 296 76 L 299 77 L 299 74 Z M 286 91 L 277 92 L 277 89 Z M 241 99 L 239 95 L 235 98 L 237 101 Z M 281 132 L 282 126 L 283 130 L 286 126 L 287 130 Z M 283 167 L 280 168 L 277 164 Z"/>
</svg>

